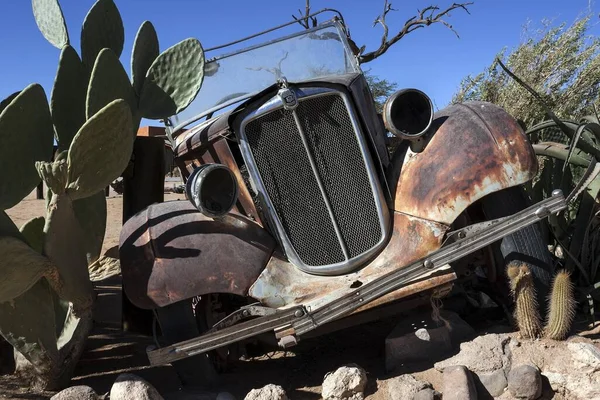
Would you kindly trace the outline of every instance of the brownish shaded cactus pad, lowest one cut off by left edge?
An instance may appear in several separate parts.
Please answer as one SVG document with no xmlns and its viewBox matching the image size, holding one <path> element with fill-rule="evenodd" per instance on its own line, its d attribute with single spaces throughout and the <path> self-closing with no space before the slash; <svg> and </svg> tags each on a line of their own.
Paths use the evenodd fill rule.
<svg viewBox="0 0 600 400">
<path fill-rule="evenodd" d="M 53 268 L 46 257 L 10 236 L 0 237 L 0 254 L 0 303 L 19 297 Z"/>
</svg>

